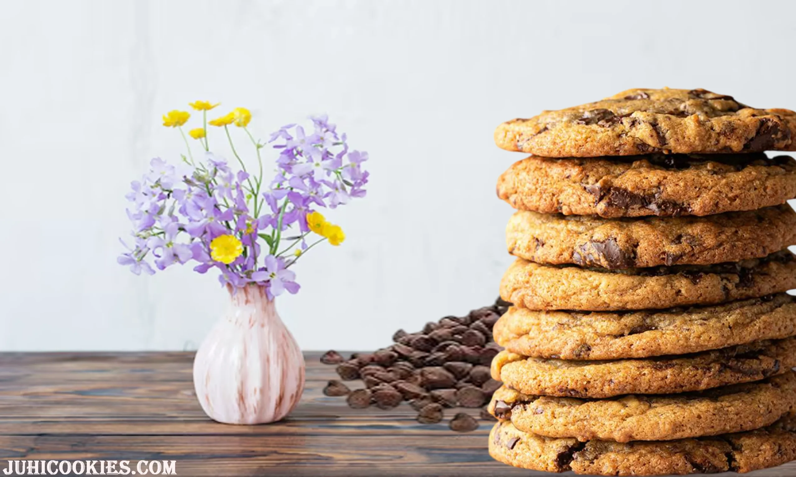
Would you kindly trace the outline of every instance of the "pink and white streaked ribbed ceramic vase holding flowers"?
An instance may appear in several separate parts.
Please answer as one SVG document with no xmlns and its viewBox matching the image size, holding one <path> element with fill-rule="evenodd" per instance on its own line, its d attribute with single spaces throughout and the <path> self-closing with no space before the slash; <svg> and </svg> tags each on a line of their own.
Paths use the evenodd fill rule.
<svg viewBox="0 0 796 477">
<path fill-rule="evenodd" d="M 304 390 L 304 357 L 265 289 L 235 293 L 193 359 L 193 386 L 205 413 L 226 424 L 279 421 Z"/>
</svg>

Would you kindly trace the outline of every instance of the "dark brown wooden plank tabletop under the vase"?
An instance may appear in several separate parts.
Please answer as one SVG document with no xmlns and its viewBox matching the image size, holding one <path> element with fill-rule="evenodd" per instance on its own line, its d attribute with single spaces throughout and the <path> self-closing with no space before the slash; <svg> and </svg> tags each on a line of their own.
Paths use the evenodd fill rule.
<svg viewBox="0 0 796 477">
<path fill-rule="evenodd" d="M 421 425 L 406 403 L 350 409 L 345 398 L 324 396 L 336 375 L 319 356 L 306 353 L 306 390 L 291 417 L 238 426 L 202 412 L 193 353 L 0 354 L 0 467 L 176 460 L 177 475 L 552 475 L 495 462 L 486 450 L 491 423 L 452 432 L 453 409 L 443 423 Z M 796 475 L 796 465 L 747 475 Z"/>
</svg>

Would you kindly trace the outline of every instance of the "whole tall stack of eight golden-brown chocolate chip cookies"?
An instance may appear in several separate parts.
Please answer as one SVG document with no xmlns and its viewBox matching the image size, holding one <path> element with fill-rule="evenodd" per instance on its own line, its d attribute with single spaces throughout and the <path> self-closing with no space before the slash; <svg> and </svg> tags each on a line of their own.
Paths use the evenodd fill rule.
<svg viewBox="0 0 796 477">
<path fill-rule="evenodd" d="M 634 89 L 497 127 L 532 153 L 490 454 L 592 475 L 746 472 L 796 459 L 796 113 Z"/>
</svg>

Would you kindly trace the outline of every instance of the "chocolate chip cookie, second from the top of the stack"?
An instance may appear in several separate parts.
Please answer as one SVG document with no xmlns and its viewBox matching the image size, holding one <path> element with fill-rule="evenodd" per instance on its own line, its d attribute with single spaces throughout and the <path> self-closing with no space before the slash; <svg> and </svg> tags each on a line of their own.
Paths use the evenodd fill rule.
<svg viewBox="0 0 796 477">
<path fill-rule="evenodd" d="M 796 197 L 796 161 L 765 154 L 527 157 L 497 180 L 497 196 L 544 214 L 712 215 Z"/>
</svg>

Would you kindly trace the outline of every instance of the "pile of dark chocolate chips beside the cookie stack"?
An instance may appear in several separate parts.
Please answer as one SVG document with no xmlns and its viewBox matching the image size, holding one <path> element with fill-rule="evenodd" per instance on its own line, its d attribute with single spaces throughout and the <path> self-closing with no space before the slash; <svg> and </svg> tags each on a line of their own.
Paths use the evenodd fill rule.
<svg viewBox="0 0 796 477">
<path fill-rule="evenodd" d="M 492 327 L 509 306 L 498 298 L 493 305 L 466 316 L 428 322 L 422 332 L 398 330 L 391 346 L 373 353 L 354 353 L 349 359 L 327 351 L 321 363 L 337 365 L 343 381 L 361 379 L 365 388 L 350 390 L 333 380 L 323 394 L 348 396 L 354 409 L 369 405 L 392 409 L 408 401 L 423 424 L 442 421 L 443 408 L 455 407 L 481 408 L 482 419 L 493 421 L 485 405 L 501 382 L 490 377 L 490 363 L 502 348 L 492 339 Z M 457 413 L 449 426 L 470 432 L 478 429 L 478 421 L 467 413 Z"/>
</svg>

